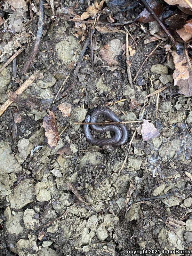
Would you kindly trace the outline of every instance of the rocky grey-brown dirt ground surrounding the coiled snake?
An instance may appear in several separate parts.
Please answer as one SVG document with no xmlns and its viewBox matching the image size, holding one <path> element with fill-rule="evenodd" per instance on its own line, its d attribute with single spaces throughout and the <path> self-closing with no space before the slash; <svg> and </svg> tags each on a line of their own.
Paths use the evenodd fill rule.
<svg viewBox="0 0 192 256">
<path fill-rule="evenodd" d="M 71 5 L 72 1 L 56 1 L 55 11 Z M 75 11 L 82 14 L 86 2 L 80 7 Z M 134 19 L 141 10 L 139 6 L 127 11 L 127 17 Z M 45 12 L 43 36 L 33 64 L 26 76 L 20 73 L 32 49 L 31 41 L 17 58 L 16 76 L 22 84 L 40 70 L 41 78 L 21 98 L 47 100 L 47 106 L 31 110 L 13 103 L 0 117 L 0 255 L 120 256 L 125 255 L 124 250 L 140 250 L 127 255 L 191 255 L 192 137 L 188 129 L 192 126 L 192 104 L 172 81 L 164 82 L 171 79 L 174 70 L 172 57 L 167 62 L 164 48 L 169 40 L 148 58 L 131 87 L 122 49 L 125 33 L 95 30 L 94 68 L 89 45 L 74 82 L 73 65 L 85 40 L 81 42 L 81 36 L 74 35 L 74 22 L 52 18 L 49 13 L 51 9 Z M 36 15 L 27 31 L 36 35 L 37 23 Z M 144 43 L 150 37 L 148 23 L 126 27 L 136 42 L 129 37 L 135 50 L 129 56 L 133 79 L 160 40 Z M 100 54 L 109 43 L 117 62 L 111 67 Z M 167 71 L 152 72 L 156 64 Z M 50 149 L 44 140 L 42 119 L 52 104 L 48 99 L 54 99 L 68 75 L 61 90 L 66 95 L 58 98 L 55 106 L 67 102 L 72 111 L 66 117 L 58 108 L 53 110 L 62 133 L 57 146 Z M 0 74 L 1 105 L 8 90 L 18 88 L 16 78 L 12 79 L 11 64 Z M 146 98 L 163 86 L 166 88 L 158 95 Z M 132 108 L 130 102 L 138 105 Z M 110 108 L 122 121 L 150 120 L 159 135 L 144 141 L 142 122 L 128 123 L 125 145 L 93 146 L 86 141 L 82 125 L 73 123 L 83 122 L 86 113 L 98 106 Z M 20 114 L 21 122 L 13 140 L 14 113 Z M 72 153 L 58 155 L 58 149 L 68 143 Z M 150 249 L 156 251 L 142 251 Z"/>
</svg>

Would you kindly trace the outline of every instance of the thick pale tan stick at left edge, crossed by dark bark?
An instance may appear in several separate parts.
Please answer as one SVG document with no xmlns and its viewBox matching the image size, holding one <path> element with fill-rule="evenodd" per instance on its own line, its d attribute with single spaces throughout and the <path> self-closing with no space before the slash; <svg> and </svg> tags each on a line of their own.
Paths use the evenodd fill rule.
<svg viewBox="0 0 192 256">
<path fill-rule="evenodd" d="M 31 75 L 14 93 L 16 95 L 20 95 L 24 92 L 30 84 L 32 84 L 39 76 L 40 71 L 36 71 L 33 75 Z M 4 111 L 11 105 L 13 101 L 8 99 L 0 108 L 0 116 L 4 113 Z"/>
</svg>

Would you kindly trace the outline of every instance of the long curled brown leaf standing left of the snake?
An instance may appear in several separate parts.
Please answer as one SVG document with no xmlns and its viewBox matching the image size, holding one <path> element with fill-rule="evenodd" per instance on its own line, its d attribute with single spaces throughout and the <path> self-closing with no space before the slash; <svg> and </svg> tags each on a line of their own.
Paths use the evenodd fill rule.
<svg viewBox="0 0 192 256">
<path fill-rule="evenodd" d="M 43 125 L 45 132 L 46 141 L 49 145 L 49 148 L 53 149 L 57 146 L 59 141 L 59 133 L 57 131 L 56 119 L 55 114 L 48 109 L 48 113 L 43 118 Z"/>
</svg>

